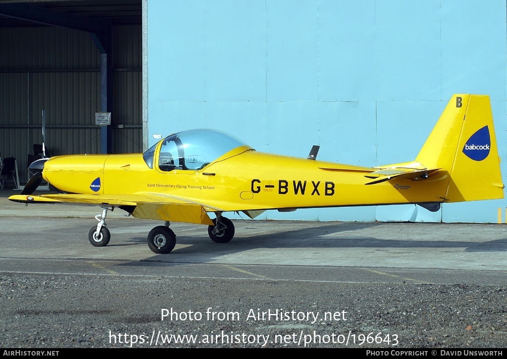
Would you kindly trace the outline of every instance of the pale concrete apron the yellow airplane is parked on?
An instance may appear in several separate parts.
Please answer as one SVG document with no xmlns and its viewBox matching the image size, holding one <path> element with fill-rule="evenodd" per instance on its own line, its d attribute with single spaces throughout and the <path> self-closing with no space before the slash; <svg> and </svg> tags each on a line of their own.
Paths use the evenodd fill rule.
<svg viewBox="0 0 507 359">
<path fill-rule="evenodd" d="M 4 191 L 0 194 L 16 193 Z M 151 252 L 146 236 L 159 221 L 107 214 L 111 242 L 93 247 L 88 231 L 101 214 L 94 206 L 14 203 L 0 198 L 2 263 L 11 259 L 137 261 L 165 264 L 337 267 L 455 271 L 456 279 L 438 274 L 416 276 L 420 282 L 507 283 L 507 232 L 498 224 L 359 223 L 304 221 L 234 221 L 229 243 L 212 242 L 207 227 L 174 223 L 176 247 L 167 255 Z M 9 267 L 0 268 L 9 270 Z M 364 272 L 364 270 L 361 270 Z M 370 270 L 371 273 L 374 273 Z M 363 273 L 364 274 L 364 273 Z M 380 274 L 379 274 L 380 275 Z M 272 276 L 269 276 L 272 277 Z M 380 275 L 383 280 L 397 277 Z M 368 277 L 365 280 L 371 280 Z"/>
</svg>

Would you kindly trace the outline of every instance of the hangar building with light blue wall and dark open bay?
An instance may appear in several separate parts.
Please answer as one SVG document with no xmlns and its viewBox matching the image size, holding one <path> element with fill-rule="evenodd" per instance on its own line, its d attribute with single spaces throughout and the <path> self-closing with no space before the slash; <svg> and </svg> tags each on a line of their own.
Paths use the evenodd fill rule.
<svg viewBox="0 0 507 359">
<path fill-rule="evenodd" d="M 320 145 L 320 160 L 378 166 L 415 159 L 452 94 L 478 93 L 491 97 L 505 178 L 506 23 L 502 0 L 7 0 L 0 154 L 26 162 L 45 110 L 50 154 L 140 152 L 158 135 L 215 128 L 258 151 Z M 95 125 L 100 111 L 110 126 Z M 262 218 L 496 223 L 506 207 Z"/>
</svg>

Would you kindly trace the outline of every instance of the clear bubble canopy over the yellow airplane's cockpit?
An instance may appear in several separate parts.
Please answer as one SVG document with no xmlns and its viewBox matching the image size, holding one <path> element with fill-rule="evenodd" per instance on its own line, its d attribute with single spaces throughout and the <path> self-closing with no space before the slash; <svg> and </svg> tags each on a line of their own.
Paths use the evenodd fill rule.
<svg viewBox="0 0 507 359">
<path fill-rule="evenodd" d="M 162 171 L 202 169 L 227 152 L 246 146 L 243 141 L 230 134 L 211 129 L 174 133 L 160 142 L 162 145 L 158 150 L 158 167 Z M 150 168 L 153 168 L 155 151 L 160 142 L 142 155 Z"/>
</svg>

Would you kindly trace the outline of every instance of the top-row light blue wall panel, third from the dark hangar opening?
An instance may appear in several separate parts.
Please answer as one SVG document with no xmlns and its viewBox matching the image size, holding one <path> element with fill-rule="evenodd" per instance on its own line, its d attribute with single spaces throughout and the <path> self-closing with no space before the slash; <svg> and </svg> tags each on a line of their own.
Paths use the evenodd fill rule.
<svg viewBox="0 0 507 359">
<path fill-rule="evenodd" d="M 375 98 L 375 28 L 374 0 L 319 2 L 319 100 Z"/>
</svg>

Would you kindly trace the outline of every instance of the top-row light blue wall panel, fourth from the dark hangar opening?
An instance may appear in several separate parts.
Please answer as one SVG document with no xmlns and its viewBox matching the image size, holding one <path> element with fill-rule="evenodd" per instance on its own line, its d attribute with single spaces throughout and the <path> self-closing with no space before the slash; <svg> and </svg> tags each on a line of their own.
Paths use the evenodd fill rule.
<svg viewBox="0 0 507 359">
<path fill-rule="evenodd" d="M 440 99 L 440 0 L 376 6 L 376 99 Z"/>
</svg>

